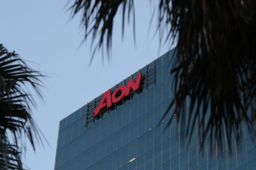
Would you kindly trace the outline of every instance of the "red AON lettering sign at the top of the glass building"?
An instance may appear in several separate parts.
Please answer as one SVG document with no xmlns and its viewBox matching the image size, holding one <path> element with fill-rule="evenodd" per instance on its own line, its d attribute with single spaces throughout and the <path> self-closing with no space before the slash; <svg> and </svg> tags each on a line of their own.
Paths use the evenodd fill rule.
<svg viewBox="0 0 256 170">
<path fill-rule="evenodd" d="M 120 85 L 119 87 L 116 88 L 116 90 L 112 93 L 112 95 L 111 95 L 110 89 L 107 92 L 105 92 L 100 100 L 98 107 L 93 111 L 93 117 L 99 115 L 100 111 L 104 107 L 107 107 L 107 108 L 111 107 L 114 103 L 117 103 L 118 101 L 122 100 L 124 97 L 130 95 L 131 89 L 133 91 L 138 90 L 140 87 L 141 76 L 142 76 L 142 73 L 140 73 L 136 77 L 136 82 L 134 82 L 133 80 L 129 80 L 127 82 L 127 86 Z M 117 96 L 117 94 L 119 94 L 118 92 L 121 92 L 119 96 Z"/>
</svg>

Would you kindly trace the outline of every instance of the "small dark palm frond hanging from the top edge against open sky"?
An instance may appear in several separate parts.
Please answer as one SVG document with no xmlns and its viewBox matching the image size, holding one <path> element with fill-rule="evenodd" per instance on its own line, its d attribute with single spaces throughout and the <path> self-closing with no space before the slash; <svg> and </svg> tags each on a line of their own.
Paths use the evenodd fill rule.
<svg viewBox="0 0 256 170">
<path fill-rule="evenodd" d="M 98 39 L 97 35 L 100 34 L 99 41 L 93 49 L 90 64 L 92 63 L 96 49 L 102 48 L 103 51 L 104 43 L 106 43 L 106 50 L 109 59 L 109 49 L 112 46 L 114 17 L 116 16 L 116 12 L 119 7 L 122 8 L 123 15 L 122 36 L 124 36 L 125 13 L 127 12 L 128 23 L 130 22 L 130 14 L 133 15 L 133 37 L 135 43 L 135 11 L 133 0 L 75 0 L 74 4 L 69 8 L 69 10 L 71 10 L 72 17 L 74 17 L 79 11 L 82 11 L 83 15 L 81 19 L 81 26 L 85 28 L 84 40 L 86 40 L 90 34 L 92 35 L 91 48 L 94 41 Z M 102 60 L 104 60 L 103 56 Z"/>
</svg>

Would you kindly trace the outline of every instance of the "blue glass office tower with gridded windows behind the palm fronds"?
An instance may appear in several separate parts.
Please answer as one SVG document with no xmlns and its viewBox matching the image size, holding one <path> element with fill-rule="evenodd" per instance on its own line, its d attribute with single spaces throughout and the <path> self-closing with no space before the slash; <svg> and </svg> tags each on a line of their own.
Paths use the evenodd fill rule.
<svg viewBox="0 0 256 170">
<path fill-rule="evenodd" d="M 253 143 L 256 137 L 248 133 L 245 124 L 240 129 L 243 137 L 239 147 L 232 134 L 232 152 L 229 154 L 226 139 L 222 141 L 226 146 L 222 151 L 216 144 L 211 144 L 209 138 L 204 139 L 204 146 L 200 149 L 196 137 L 198 126 L 192 137 L 182 137 L 176 119 L 168 124 L 172 109 L 162 119 L 173 100 L 170 70 L 175 60 L 177 57 L 172 49 L 115 85 L 111 92 L 142 73 L 140 89 L 114 106 L 101 110 L 100 116 L 93 117 L 93 111 L 102 95 L 61 120 L 54 169 L 256 169 Z M 189 100 L 184 110 L 186 113 L 188 108 Z M 220 133 L 226 135 L 224 130 Z"/>
</svg>

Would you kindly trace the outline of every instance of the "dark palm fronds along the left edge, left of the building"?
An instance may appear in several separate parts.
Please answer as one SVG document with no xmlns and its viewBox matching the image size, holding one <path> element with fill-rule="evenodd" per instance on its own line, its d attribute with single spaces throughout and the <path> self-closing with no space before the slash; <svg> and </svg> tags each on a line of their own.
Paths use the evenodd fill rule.
<svg viewBox="0 0 256 170">
<path fill-rule="evenodd" d="M 35 138 L 41 141 L 38 128 L 31 117 L 31 105 L 36 107 L 28 91 L 31 85 L 42 99 L 40 87 L 43 75 L 30 69 L 14 52 L 0 44 L 0 169 L 23 169 L 21 152 L 28 137 L 35 150 Z M 10 140 L 12 137 L 12 140 Z"/>
</svg>

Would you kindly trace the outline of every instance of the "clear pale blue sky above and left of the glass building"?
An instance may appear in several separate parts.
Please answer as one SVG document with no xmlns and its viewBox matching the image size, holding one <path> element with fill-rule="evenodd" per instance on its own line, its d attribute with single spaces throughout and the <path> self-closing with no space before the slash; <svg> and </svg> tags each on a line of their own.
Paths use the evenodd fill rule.
<svg viewBox="0 0 256 170">
<path fill-rule="evenodd" d="M 44 102 L 33 110 L 33 118 L 48 140 L 50 147 L 36 143 L 36 152 L 27 140 L 24 163 L 33 170 L 51 170 L 54 167 L 59 121 L 84 106 L 101 92 L 113 87 L 150 63 L 171 48 L 160 50 L 156 18 L 148 34 L 148 26 L 153 11 L 148 0 L 135 2 L 136 48 L 133 43 L 132 24 L 125 27 L 122 41 L 122 13 L 114 20 L 111 61 L 102 64 L 101 51 L 94 56 L 88 67 L 92 53 L 91 39 L 83 40 L 83 30 L 79 28 L 80 16 L 70 20 L 70 12 L 65 8 L 67 0 L 45 1 L 1 1 L 0 43 L 28 61 L 28 65 L 42 71 L 46 78 Z M 152 2 L 154 3 L 154 2 Z"/>
</svg>

